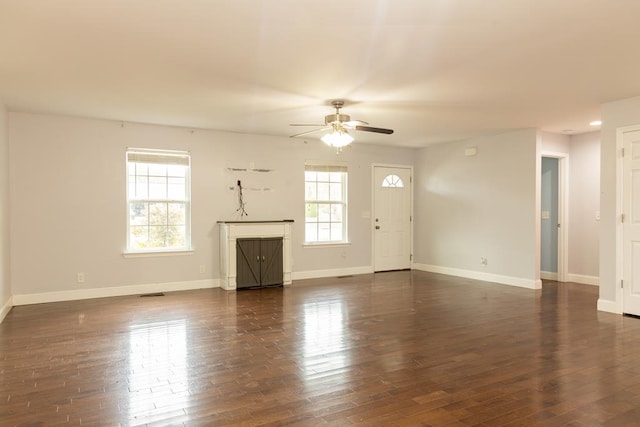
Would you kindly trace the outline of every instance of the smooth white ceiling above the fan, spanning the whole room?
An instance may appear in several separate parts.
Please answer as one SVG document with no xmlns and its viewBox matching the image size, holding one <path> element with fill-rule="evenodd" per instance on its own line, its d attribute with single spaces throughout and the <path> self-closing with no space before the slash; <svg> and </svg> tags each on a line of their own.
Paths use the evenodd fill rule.
<svg viewBox="0 0 640 427">
<path fill-rule="evenodd" d="M 580 133 L 640 95 L 639 17 L 639 0 L 0 0 L 0 100 L 288 136 L 344 99 L 396 131 L 356 142 L 397 146 Z"/>
</svg>

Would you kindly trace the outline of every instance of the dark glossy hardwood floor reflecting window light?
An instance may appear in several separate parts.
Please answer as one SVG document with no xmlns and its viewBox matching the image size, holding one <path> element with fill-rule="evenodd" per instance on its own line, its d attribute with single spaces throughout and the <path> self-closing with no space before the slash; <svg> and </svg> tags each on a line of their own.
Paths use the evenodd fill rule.
<svg viewBox="0 0 640 427">
<path fill-rule="evenodd" d="M 639 425 L 598 288 L 401 271 L 14 307 L 0 425 Z"/>
</svg>

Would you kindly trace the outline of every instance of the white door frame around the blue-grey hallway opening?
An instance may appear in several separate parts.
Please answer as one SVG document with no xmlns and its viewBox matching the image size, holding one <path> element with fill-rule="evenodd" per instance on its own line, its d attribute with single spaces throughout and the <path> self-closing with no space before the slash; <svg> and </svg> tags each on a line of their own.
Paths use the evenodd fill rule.
<svg viewBox="0 0 640 427">
<path fill-rule="evenodd" d="M 540 164 L 543 157 L 558 159 L 558 282 L 567 281 L 568 270 L 568 253 L 569 253 L 569 154 L 558 153 L 554 151 L 542 151 L 540 153 Z M 538 198 L 541 195 L 538 194 Z M 540 202 L 538 202 L 540 206 Z M 540 213 L 537 213 L 538 221 L 540 221 Z M 542 247 L 542 237 L 538 233 L 538 248 Z M 540 269 L 540 264 L 538 264 Z"/>
</svg>

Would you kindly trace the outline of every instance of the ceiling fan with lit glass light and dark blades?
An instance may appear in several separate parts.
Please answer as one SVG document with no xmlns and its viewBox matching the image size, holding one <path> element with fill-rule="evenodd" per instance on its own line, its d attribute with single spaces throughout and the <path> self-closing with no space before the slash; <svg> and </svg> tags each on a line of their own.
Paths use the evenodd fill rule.
<svg viewBox="0 0 640 427">
<path fill-rule="evenodd" d="M 351 120 L 351 117 L 347 114 L 340 114 L 340 109 L 344 106 L 344 101 L 335 100 L 331 102 L 331 105 L 336 109 L 335 114 L 328 114 L 324 116 L 324 124 L 299 124 L 294 123 L 291 126 L 315 126 L 316 129 L 300 132 L 295 135 L 291 135 L 291 138 L 297 136 L 307 135 L 314 132 L 329 131 L 321 139 L 322 141 L 338 151 L 346 145 L 353 142 L 353 137 L 349 135 L 349 130 L 358 130 L 364 132 L 384 133 L 391 135 L 393 129 L 376 128 L 369 126 L 369 123 L 362 120 Z"/>
</svg>

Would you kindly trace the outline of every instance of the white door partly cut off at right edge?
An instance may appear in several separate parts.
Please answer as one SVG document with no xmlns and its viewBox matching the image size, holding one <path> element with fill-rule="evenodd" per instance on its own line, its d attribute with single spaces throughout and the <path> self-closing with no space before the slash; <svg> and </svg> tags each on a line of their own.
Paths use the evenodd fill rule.
<svg viewBox="0 0 640 427">
<path fill-rule="evenodd" d="M 626 132 L 623 158 L 622 311 L 640 315 L 640 131 Z"/>
</svg>

